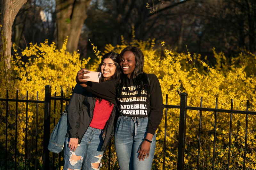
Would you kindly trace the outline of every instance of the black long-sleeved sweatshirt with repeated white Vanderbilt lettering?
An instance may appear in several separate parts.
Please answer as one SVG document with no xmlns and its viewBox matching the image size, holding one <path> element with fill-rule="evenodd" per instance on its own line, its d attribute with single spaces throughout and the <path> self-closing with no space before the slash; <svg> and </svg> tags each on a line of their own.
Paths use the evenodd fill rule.
<svg viewBox="0 0 256 170">
<path fill-rule="evenodd" d="M 116 80 L 95 83 L 87 82 L 86 90 L 116 104 L 121 115 L 131 117 L 147 117 L 148 133 L 155 134 L 163 117 L 163 97 L 158 78 L 154 74 L 148 74 L 150 80 L 150 101 L 147 102 L 147 93 L 142 90 L 138 96 L 136 86 L 132 79 L 127 79 L 127 87 L 122 89 L 122 98 L 116 98 Z"/>
</svg>

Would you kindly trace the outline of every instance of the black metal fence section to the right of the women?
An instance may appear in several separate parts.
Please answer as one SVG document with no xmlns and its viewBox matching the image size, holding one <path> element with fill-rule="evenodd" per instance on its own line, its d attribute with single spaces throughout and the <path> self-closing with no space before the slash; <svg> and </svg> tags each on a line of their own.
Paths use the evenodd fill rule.
<svg viewBox="0 0 256 170">
<path fill-rule="evenodd" d="M 233 99 L 231 100 L 231 109 L 218 109 L 218 98 L 216 98 L 215 108 L 205 108 L 202 107 L 203 98 L 201 97 L 200 107 L 191 107 L 187 106 L 187 93 L 180 94 L 180 106 L 174 105 L 167 105 L 167 98 L 166 96 L 166 112 L 165 118 L 167 117 L 167 109 L 168 108 L 179 108 L 180 109 L 180 127 L 179 127 L 179 145 L 178 145 L 178 160 L 177 160 L 177 169 L 183 170 L 184 169 L 184 158 L 185 158 L 185 137 L 186 137 L 186 120 L 187 120 L 187 110 L 198 110 L 200 111 L 199 116 L 199 142 L 198 142 L 198 153 L 197 153 L 197 168 L 199 169 L 199 153 L 200 153 L 200 137 L 201 137 L 201 125 L 202 125 L 202 111 L 209 111 L 214 112 L 214 140 L 213 140 L 213 155 L 212 155 L 212 170 L 214 170 L 214 163 L 215 163 L 215 144 L 216 144 L 216 126 L 217 126 L 217 113 L 230 113 L 230 128 L 229 128 L 229 148 L 228 148 L 228 169 L 229 169 L 229 162 L 230 162 L 230 145 L 231 145 L 231 128 L 232 128 L 232 116 L 233 113 L 235 114 L 245 114 L 246 115 L 246 125 L 245 125 L 245 144 L 244 144 L 244 162 L 243 162 L 243 170 L 245 169 L 245 161 L 246 161 L 246 146 L 247 146 L 247 128 L 248 128 L 248 115 L 256 115 L 256 112 L 248 111 L 249 109 L 249 100 L 247 100 L 247 107 L 246 111 L 241 110 L 233 110 Z M 165 120 L 166 123 L 166 120 Z M 166 125 L 165 125 L 166 131 Z M 165 137 L 166 139 L 166 137 Z M 165 148 L 164 148 L 165 151 Z M 164 162 L 165 163 L 165 162 Z M 164 166 L 163 166 L 164 167 Z M 164 169 L 164 168 L 163 168 Z"/>
</svg>

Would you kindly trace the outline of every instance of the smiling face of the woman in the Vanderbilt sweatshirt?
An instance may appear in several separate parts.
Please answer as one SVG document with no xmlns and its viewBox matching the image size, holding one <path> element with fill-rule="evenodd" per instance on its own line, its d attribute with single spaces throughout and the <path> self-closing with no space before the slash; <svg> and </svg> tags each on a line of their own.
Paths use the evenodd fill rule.
<svg viewBox="0 0 256 170">
<path fill-rule="evenodd" d="M 128 78 L 131 77 L 132 72 L 135 69 L 135 65 L 135 56 L 132 51 L 125 51 L 121 57 L 120 66 Z"/>
</svg>

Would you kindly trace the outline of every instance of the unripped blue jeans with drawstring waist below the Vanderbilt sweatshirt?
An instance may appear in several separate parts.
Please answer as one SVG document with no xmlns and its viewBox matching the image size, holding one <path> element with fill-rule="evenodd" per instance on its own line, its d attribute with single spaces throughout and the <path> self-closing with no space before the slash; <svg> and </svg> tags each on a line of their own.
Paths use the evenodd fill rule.
<svg viewBox="0 0 256 170">
<path fill-rule="evenodd" d="M 156 133 L 150 144 L 148 159 L 139 161 L 138 151 L 147 135 L 148 117 L 120 115 L 116 123 L 115 148 L 120 170 L 150 170 L 156 149 Z"/>
</svg>

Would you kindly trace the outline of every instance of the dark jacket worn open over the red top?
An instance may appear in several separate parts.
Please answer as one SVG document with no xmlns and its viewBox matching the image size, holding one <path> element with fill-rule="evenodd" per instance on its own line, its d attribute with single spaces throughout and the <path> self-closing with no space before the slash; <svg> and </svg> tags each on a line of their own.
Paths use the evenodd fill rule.
<svg viewBox="0 0 256 170">
<path fill-rule="evenodd" d="M 85 131 L 89 127 L 93 111 L 95 107 L 95 95 L 85 90 L 79 84 L 76 84 L 72 96 L 68 104 L 68 131 L 66 137 L 78 138 L 78 143 L 81 142 Z M 114 136 L 114 120 L 116 115 L 116 106 L 113 106 L 111 115 L 103 129 L 103 146 L 101 151 L 105 151 L 111 137 Z"/>
</svg>

